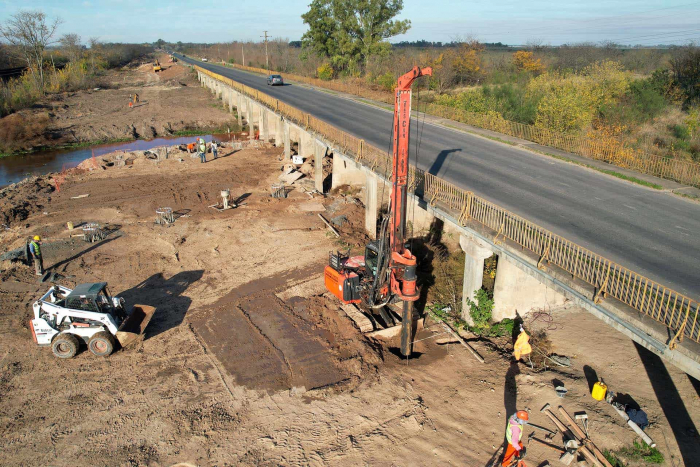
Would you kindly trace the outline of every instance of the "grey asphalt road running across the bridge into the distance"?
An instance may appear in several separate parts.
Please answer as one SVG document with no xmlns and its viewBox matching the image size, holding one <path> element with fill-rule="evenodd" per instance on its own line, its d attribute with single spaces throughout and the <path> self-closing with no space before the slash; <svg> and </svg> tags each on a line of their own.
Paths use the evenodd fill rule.
<svg viewBox="0 0 700 467">
<path fill-rule="evenodd" d="M 388 150 L 392 114 L 306 86 L 215 71 Z M 429 123 L 412 122 L 417 166 L 678 292 L 700 299 L 700 203 Z M 412 154 L 416 163 L 415 154 Z"/>
</svg>

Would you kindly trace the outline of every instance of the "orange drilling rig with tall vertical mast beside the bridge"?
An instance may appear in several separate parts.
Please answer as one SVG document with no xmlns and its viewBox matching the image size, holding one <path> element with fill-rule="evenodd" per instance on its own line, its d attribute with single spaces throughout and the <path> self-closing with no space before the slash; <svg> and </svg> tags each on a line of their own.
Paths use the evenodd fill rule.
<svg viewBox="0 0 700 467">
<path fill-rule="evenodd" d="M 408 142 L 411 126 L 411 85 L 432 68 L 413 67 L 398 79 L 394 99 L 391 201 L 377 240 L 368 243 L 364 256 L 330 255 L 324 271 L 326 288 L 345 304 L 360 304 L 373 312 L 389 302 L 403 302 L 401 354 L 411 355 L 413 302 L 418 300 L 416 257 L 406 246 L 408 195 Z"/>
</svg>

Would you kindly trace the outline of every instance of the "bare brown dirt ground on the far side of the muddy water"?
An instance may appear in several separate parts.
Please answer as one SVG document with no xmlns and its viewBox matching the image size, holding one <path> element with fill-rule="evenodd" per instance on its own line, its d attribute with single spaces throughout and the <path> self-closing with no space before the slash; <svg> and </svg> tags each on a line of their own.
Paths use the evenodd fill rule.
<svg viewBox="0 0 700 467">
<path fill-rule="evenodd" d="M 235 130 L 235 116 L 211 99 L 189 69 L 150 62 L 109 70 L 95 88 L 52 94 L 30 109 L 0 119 L 7 150 L 115 139 L 155 138 L 187 129 Z M 132 94 L 140 102 L 129 108 Z"/>
</svg>

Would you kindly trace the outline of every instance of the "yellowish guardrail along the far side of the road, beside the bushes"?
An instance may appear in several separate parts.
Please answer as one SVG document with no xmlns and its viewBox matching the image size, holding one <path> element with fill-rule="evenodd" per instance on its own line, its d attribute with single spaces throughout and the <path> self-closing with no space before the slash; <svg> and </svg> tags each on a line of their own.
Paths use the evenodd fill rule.
<svg viewBox="0 0 700 467">
<path fill-rule="evenodd" d="M 225 65 L 253 73 L 268 73 L 267 70 L 262 68 L 237 64 Z M 394 103 L 394 96 L 392 94 L 367 89 L 361 85 L 336 80 L 324 81 L 317 78 L 309 78 L 291 73 L 279 72 L 278 74 L 282 75 L 284 79 L 290 79 L 293 81 L 310 84 L 312 86 L 354 94 L 356 96 L 386 102 L 389 104 Z M 450 120 L 466 123 L 475 127 L 532 141 L 543 146 L 561 149 L 566 152 L 587 157 L 589 159 L 607 162 L 608 164 L 615 165 L 617 167 L 635 170 L 643 174 L 653 175 L 655 177 L 665 178 L 667 180 L 673 180 L 678 183 L 700 188 L 700 164 L 656 156 L 638 149 L 630 148 L 618 138 L 606 137 L 601 139 L 599 136 L 592 137 L 585 135 L 567 135 L 545 128 L 535 127 L 533 125 L 512 122 L 493 114 L 468 112 L 455 107 L 438 104 L 427 104 L 423 111 L 429 115 L 448 118 Z"/>
</svg>

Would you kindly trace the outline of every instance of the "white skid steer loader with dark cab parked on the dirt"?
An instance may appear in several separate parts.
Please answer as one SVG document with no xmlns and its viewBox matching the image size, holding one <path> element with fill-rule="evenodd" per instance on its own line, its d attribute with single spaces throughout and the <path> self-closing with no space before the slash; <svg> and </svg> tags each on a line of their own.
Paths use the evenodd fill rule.
<svg viewBox="0 0 700 467">
<path fill-rule="evenodd" d="M 134 305 L 127 313 L 124 299 L 112 297 L 106 282 L 78 285 L 69 289 L 54 285 L 34 302 L 32 336 L 39 345 L 51 346 L 58 358 L 72 358 L 80 341 L 98 357 L 110 355 L 117 342 L 125 348 L 136 342 L 155 308 Z"/>
</svg>

